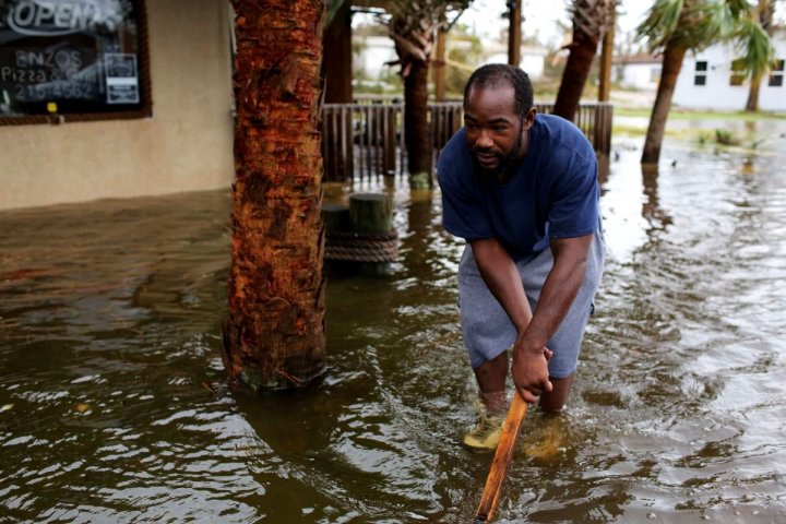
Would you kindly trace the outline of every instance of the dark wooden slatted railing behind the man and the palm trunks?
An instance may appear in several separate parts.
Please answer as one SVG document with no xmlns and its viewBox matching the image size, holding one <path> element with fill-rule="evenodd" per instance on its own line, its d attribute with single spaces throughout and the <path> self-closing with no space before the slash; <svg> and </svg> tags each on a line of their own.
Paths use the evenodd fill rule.
<svg viewBox="0 0 786 524">
<path fill-rule="evenodd" d="M 535 104 L 551 112 L 552 104 Z M 611 151 L 614 106 L 582 104 L 575 124 L 590 139 L 598 156 Z M 429 104 L 434 159 L 462 126 L 461 100 Z M 406 171 L 404 104 L 401 99 L 365 99 L 355 104 L 325 104 L 322 111 L 322 157 L 325 181 L 348 181 Z"/>
</svg>

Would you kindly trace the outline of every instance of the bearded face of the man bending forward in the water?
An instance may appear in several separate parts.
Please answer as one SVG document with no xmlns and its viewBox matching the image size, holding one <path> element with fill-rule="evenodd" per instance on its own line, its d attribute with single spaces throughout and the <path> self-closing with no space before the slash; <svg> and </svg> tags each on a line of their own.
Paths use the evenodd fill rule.
<svg viewBox="0 0 786 524">
<path fill-rule="evenodd" d="M 512 86 L 471 88 L 464 132 L 475 167 L 498 181 L 509 179 L 511 167 L 527 152 L 527 131 L 534 122 L 534 108 L 524 120 L 516 114 Z"/>
</svg>

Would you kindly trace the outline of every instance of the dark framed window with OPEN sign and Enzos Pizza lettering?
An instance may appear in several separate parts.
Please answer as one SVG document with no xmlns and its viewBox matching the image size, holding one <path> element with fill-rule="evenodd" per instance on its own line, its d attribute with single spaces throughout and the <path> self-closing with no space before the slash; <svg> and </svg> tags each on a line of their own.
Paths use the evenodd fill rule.
<svg viewBox="0 0 786 524">
<path fill-rule="evenodd" d="M 148 114 L 144 23 L 141 0 L 0 0 L 0 123 Z"/>
</svg>

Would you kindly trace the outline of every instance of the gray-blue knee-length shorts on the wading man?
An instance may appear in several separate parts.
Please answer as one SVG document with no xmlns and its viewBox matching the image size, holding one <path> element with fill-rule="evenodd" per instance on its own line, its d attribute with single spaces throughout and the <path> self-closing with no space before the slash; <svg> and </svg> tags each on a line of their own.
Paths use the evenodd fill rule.
<svg viewBox="0 0 786 524">
<path fill-rule="evenodd" d="M 533 311 L 537 308 L 540 289 L 552 264 L 550 249 L 516 263 Z M 575 372 L 584 330 L 594 309 L 593 299 L 600 282 L 603 265 L 603 234 L 596 233 L 579 294 L 557 333 L 546 343 L 546 346 L 553 352 L 549 361 L 549 374 L 555 379 L 563 379 Z M 515 327 L 486 286 L 468 243 L 458 265 L 458 305 L 464 346 L 473 369 L 493 359 L 513 345 L 516 337 Z"/>
</svg>

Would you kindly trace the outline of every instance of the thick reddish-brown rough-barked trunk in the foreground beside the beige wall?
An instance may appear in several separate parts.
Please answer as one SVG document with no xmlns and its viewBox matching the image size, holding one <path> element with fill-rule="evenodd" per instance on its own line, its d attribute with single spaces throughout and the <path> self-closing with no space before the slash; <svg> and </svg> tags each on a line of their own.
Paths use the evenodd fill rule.
<svg viewBox="0 0 786 524">
<path fill-rule="evenodd" d="M 251 390 L 325 369 L 320 154 L 323 4 L 235 0 L 233 262 L 223 360 Z"/>
</svg>

